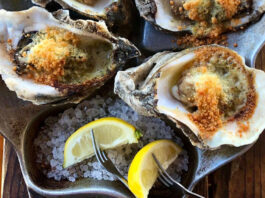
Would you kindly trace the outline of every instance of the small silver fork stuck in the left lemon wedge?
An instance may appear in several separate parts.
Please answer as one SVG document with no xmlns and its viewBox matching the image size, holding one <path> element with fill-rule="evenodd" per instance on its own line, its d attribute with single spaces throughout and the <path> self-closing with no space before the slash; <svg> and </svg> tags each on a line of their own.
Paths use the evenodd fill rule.
<svg viewBox="0 0 265 198">
<path fill-rule="evenodd" d="M 112 161 L 108 158 L 106 153 L 104 151 L 101 151 L 98 144 L 96 143 L 95 136 L 94 136 L 94 130 L 91 129 L 90 131 L 91 137 L 92 137 L 92 143 L 93 148 L 95 151 L 96 158 L 98 162 L 106 168 L 107 171 L 112 173 L 114 176 L 116 176 L 128 189 L 128 182 L 127 180 L 122 176 L 122 174 L 118 171 L 118 169 L 115 167 L 115 165 L 112 163 Z"/>
</svg>

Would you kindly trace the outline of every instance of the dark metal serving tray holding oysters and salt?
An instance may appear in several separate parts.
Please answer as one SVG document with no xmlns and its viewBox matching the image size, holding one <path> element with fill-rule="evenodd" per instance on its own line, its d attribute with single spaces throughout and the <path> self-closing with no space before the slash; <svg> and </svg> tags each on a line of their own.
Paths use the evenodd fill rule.
<svg viewBox="0 0 265 198">
<path fill-rule="evenodd" d="M 30 0 L 0 0 L 0 9 L 10 11 L 24 10 L 31 6 Z M 49 9 L 53 8 L 55 8 L 53 5 L 49 5 Z M 76 17 L 74 13 L 73 16 Z M 142 51 L 142 58 L 158 51 L 181 50 L 176 42 L 172 42 L 172 40 L 176 40 L 175 35 L 157 31 L 139 16 L 137 16 L 135 24 L 138 27 L 133 28 L 134 32 L 131 33 L 130 38 Z M 264 45 L 264 24 L 265 16 L 245 30 L 228 34 L 229 47 L 245 57 L 250 67 L 255 66 L 257 54 Z M 234 43 L 238 44 L 237 48 L 233 46 Z M 140 59 L 131 64 L 138 62 Z M 112 81 L 107 83 L 98 94 L 102 90 L 111 91 L 112 84 Z M 18 99 L 16 94 L 9 91 L 1 80 L 0 93 L 0 132 L 12 143 L 17 152 L 23 177 L 32 197 L 39 197 L 39 195 L 45 197 L 133 197 L 118 181 L 96 181 L 83 178 L 72 183 L 47 179 L 35 163 L 32 142 L 37 135 L 38 127 L 47 116 L 61 112 L 71 105 L 35 106 Z M 170 122 L 168 124 L 173 126 Z M 193 189 L 201 178 L 242 155 L 252 146 L 238 148 L 223 146 L 215 151 L 204 151 L 192 146 L 177 128 L 175 130 L 178 136 L 182 138 L 190 159 L 189 171 L 182 176 L 182 183 L 189 189 Z M 172 194 L 163 188 L 151 191 L 150 197 L 161 196 L 177 197 L 177 194 Z"/>
</svg>

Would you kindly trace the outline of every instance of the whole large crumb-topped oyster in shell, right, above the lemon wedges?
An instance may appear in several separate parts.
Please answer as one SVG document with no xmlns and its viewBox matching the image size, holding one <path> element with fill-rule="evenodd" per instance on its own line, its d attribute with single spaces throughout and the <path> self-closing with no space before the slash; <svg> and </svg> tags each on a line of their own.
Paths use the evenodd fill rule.
<svg viewBox="0 0 265 198">
<path fill-rule="evenodd" d="M 265 73 L 217 45 L 158 53 L 118 72 L 114 91 L 143 115 L 166 116 L 201 148 L 250 144 L 265 128 Z"/>
</svg>

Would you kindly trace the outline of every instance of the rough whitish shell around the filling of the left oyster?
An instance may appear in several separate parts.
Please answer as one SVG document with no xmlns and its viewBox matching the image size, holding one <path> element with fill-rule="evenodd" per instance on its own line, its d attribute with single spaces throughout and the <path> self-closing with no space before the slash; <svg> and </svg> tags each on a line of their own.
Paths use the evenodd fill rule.
<svg viewBox="0 0 265 198">
<path fill-rule="evenodd" d="M 51 14 L 40 7 L 33 7 L 20 12 L 0 10 L 0 18 L 0 74 L 7 87 L 15 91 L 19 98 L 31 101 L 34 104 L 78 103 L 110 79 L 124 65 L 126 60 L 139 55 L 138 49 L 127 39 L 114 37 L 103 21 L 75 21 L 70 19 L 68 11 L 60 10 Z M 23 39 L 27 38 L 28 33 L 39 32 L 47 27 L 61 28 L 71 32 L 77 35 L 78 38 L 80 37 L 81 43 L 98 42 L 107 45 L 107 56 L 101 58 L 106 64 L 93 66 L 91 73 L 96 73 L 92 73 L 91 77 L 77 83 L 59 82 L 51 86 L 36 83 L 34 80 L 18 75 L 14 71 L 17 66 L 14 54 L 19 50 L 20 46 L 18 45 L 21 44 Z M 30 42 L 30 39 L 27 42 Z M 93 45 L 88 45 L 89 48 L 91 46 Z M 93 50 L 94 48 L 91 53 Z M 96 55 L 92 56 L 92 59 L 95 59 L 95 64 L 102 62 Z"/>
</svg>

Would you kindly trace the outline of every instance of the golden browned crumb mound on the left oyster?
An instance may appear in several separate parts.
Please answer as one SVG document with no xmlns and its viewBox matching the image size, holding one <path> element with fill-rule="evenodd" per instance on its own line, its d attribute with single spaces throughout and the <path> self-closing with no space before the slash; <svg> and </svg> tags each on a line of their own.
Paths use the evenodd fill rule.
<svg viewBox="0 0 265 198">
<path fill-rule="evenodd" d="M 76 56 L 79 38 L 72 32 L 47 28 L 39 33 L 34 41 L 36 44 L 22 56 L 27 57 L 27 77 L 42 84 L 53 85 L 64 75 L 64 67 L 69 57 Z M 87 61 L 86 55 L 78 53 L 77 63 Z"/>
</svg>

